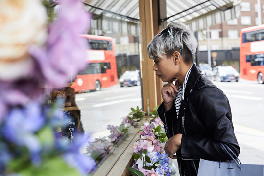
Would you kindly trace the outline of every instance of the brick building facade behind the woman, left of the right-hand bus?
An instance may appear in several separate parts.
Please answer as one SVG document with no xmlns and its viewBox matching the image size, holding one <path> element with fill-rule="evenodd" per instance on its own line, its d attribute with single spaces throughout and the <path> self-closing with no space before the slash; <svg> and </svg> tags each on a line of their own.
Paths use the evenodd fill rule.
<svg viewBox="0 0 264 176">
<path fill-rule="evenodd" d="M 264 0 L 241 0 L 240 18 L 229 20 L 210 27 L 211 63 L 216 65 L 234 65 L 239 71 L 240 30 L 264 23 Z M 258 8 L 261 11 L 261 22 L 258 19 Z M 198 33 L 200 62 L 207 63 L 207 30 Z"/>
</svg>

